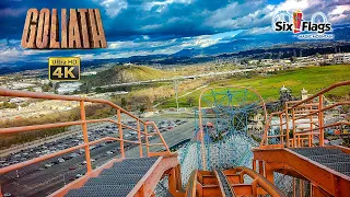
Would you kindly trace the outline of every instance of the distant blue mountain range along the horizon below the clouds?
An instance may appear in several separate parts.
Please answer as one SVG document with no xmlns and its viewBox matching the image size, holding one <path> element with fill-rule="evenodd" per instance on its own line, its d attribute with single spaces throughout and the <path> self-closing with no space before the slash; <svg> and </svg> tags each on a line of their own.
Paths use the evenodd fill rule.
<svg viewBox="0 0 350 197">
<path fill-rule="evenodd" d="M 335 50 L 332 49 L 332 47 L 337 45 L 343 46 L 341 51 L 348 51 L 350 45 L 343 45 L 341 44 L 341 42 L 350 40 L 350 25 L 339 26 L 332 31 L 332 34 L 335 35 L 334 40 L 300 40 L 290 33 L 279 33 L 278 35 L 277 33 L 250 35 L 248 32 L 243 31 L 232 38 L 225 38 L 221 43 L 203 48 L 186 48 L 172 55 L 159 54 L 149 56 L 132 56 L 128 58 L 117 59 L 85 60 L 82 61 L 82 67 L 100 67 L 101 65 L 112 62 L 133 62 L 139 65 L 160 63 L 164 66 L 176 63 L 197 63 L 214 60 L 215 57 L 243 57 L 246 55 L 278 53 L 283 50 L 290 53 L 293 50 L 304 49 L 308 46 L 313 48 L 317 48 L 317 46 L 319 46 L 319 48 L 322 49 L 311 50 L 308 54 L 304 53 L 305 56 L 313 55 L 315 53 L 334 53 Z M 47 62 L 18 61 L 15 66 L 0 65 L 0 74 L 45 68 L 47 68 Z"/>
</svg>

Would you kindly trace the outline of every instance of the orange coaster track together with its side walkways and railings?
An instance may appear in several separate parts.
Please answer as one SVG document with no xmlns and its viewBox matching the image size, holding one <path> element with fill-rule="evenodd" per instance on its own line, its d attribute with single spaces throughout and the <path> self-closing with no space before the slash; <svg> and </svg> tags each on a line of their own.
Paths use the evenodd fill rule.
<svg viewBox="0 0 350 197">
<path fill-rule="evenodd" d="M 254 160 L 252 170 L 244 166 L 230 170 L 195 170 L 188 179 L 186 189 L 183 189 L 180 165 L 177 160 L 177 154 L 170 151 L 155 123 L 143 121 L 124 108 L 105 100 L 0 89 L 1 96 L 75 101 L 80 103 L 81 107 L 81 120 L 0 128 L 0 135 L 81 125 L 84 137 L 84 143 L 80 146 L 1 167 L 0 174 L 5 174 L 23 166 L 84 148 L 86 174 L 52 193 L 50 196 L 155 196 L 156 185 L 165 177 L 168 182 L 168 193 L 176 197 L 285 196 L 277 185 L 275 185 L 275 173 L 281 173 L 293 178 L 310 182 L 311 196 L 349 196 L 350 149 L 340 146 L 325 146 L 324 129 L 350 124 L 348 121 L 341 121 L 325 125 L 324 115 L 325 111 L 340 105 L 349 105 L 350 102 L 339 102 L 330 106 L 325 106 L 323 102 L 323 96 L 326 92 L 349 84 L 350 81 L 334 84 L 307 100 L 288 103 L 283 112 L 272 113 L 269 121 L 266 124 L 260 146 L 253 149 Z M 86 120 L 85 103 L 109 105 L 116 111 L 118 119 L 104 118 Z M 133 118 L 137 123 L 136 128 L 124 125 L 121 114 Z M 271 120 L 272 116 L 276 115 L 280 118 L 277 125 L 277 127 L 280 128 L 280 134 L 271 135 L 270 129 L 273 126 Z M 299 119 L 303 121 L 307 119 L 306 124 L 308 124 L 310 127 L 302 129 L 296 127 Z M 100 140 L 89 141 L 86 124 L 101 121 L 116 124 L 120 135 L 119 138 L 106 137 Z M 124 139 L 124 128 L 137 131 L 138 140 L 129 141 Z M 290 128 L 291 132 L 289 131 Z M 148 141 L 149 136 L 158 136 L 161 143 L 150 143 Z M 273 138 L 278 139 L 278 143 L 271 143 L 270 139 Z M 316 139 L 318 139 L 318 141 L 316 141 Z M 120 146 L 120 158 L 113 159 L 97 169 L 92 169 L 90 146 L 104 141 L 118 141 Z M 124 143 L 135 143 L 139 146 L 140 158 L 126 158 Z M 162 146 L 164 147 L 164 151 L 150 152 L 149 148 L 152 146 Z M 145 153 L 143 149 L 145 149 Z M 291 187 L 293 187 L 295 195 L 295 186 Z M 299 192 L 301 196 L 304 196 L 305 193 L 303 193 L 301 188 Z M 2 196 L 2 194 L 0 196 Z"/>
</svg>

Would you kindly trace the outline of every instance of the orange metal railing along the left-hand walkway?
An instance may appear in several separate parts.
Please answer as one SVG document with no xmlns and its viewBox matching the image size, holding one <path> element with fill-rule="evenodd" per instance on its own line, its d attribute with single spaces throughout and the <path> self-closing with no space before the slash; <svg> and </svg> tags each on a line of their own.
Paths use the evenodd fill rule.
<svg viewBox="0 0 350 197">
<path fill-rule="evenodd" d="M 80 102 L 80 116 L 81 120 L 77 121 L 67 121 L 67 123 L 55 123 L 55 124 L 45 124 L 45 125 L 32 125 L 32 126 L 22 126 L 22 127 L 11 127 L 11 128 L 0 128 L 0 136 L 4 134 L 16 134 L 16 132 L 26 132 L 26 131 L 33 131 L 33 130 L 40 130 L 40 129 L 49 129 L 49 128 L 57 128 L 57 127 L 67 127 L 67 126 L 74 126 L 74 125 L 81 125 L 82 126 L 82 132 L 83 132 L 83 140 L 84 142 L 82 144 L 71 147 L 55 153 L 45 154 L 40 158 L 35 158 L 25 162 L 12 164 L 9 166 L 4 166 L 0 169 L 0 174 L 8 173 L 10 171 L 19 170 L 21 167 L 38 163 L 51 158 L 56 158 L 58 155 L 62 155 L 72 151 L 77 151 L 79 149 L 84 148 L 85 149 L 85 161 L 86 161 L 86 171 L 88 173 L 92 171 L 91 166 L 91 160 L 90 160 L 90 146 L 101 143 L 104 141 L 119 141 L 120 144 L 120 157 L 121 159 L 125 158 L 125 146 L 124 143 L 133 143 L 138 144 L 140 149 L 140 158 L 143 157 L 143 147 L 145 147 L 147 150 L 147 157 L 152 155 L 161 155 L 161 154 L 170 154 L 171 151 L 164 141 L 160 130 L 158 129 L 155 123 L 153 121 L 143 121 L 142 119 L 138 118 L 137 116 L 132 115 L 131 113 L 127 112 L 126 109 L 119 107 L 118 105 L 106 101 L 106 100 L 100 100 L 100 99 L 89 99 L 89 97 L 80 97 L 80 96 L 70 96 L 70 95 L 57 95 L 57 94 L 46 94 L 46 93 L 37 93 L 37 92 L 24 92 L 24 91 L 14 91 L 14 90 L 5 90 L 0 89 L 0 96 L 12 96 L 12 97 L 28 97 L 28 99 L 46 99 L 46 100 L 58 100 L 58 101 L 72 101 L 72 102 Z M 86 119 L 85 116 L 85 103 L 98 103 L 98 104 L 105 104 L 110 106 L 112 108 L 116 109 L 117 114 L 117 120 L 112 118 L 103 118 L 103 119 Z M 121 114 L 127 115 L 129 118 L 133 119 L 137 123 L 137 128 L 130 127 L 128 125 L 122 124 L 121 121 Z M 88 136 L 88 124 L 91 123 L 112 123 L 118 126 L 118 132 L 119 138 L 115 137 L 105 137 L 95 141 L 89 141 Z M 141 130 L 141 125 L 143 125 L 143 130 Z M 148 126 L 151 126 L 154 131 L 148 132 Z M 130 141 L 124 139 L 122 129 L 130 129 L 135 130 L 138 134 L 138 141 Z M 161 139 L 161 143 L 150 143 L 149 142 L 149 136 L 159 136 Z M 145 142 L 142 142 L 142 137 L 144 138 Z M 152 146 L 164 146 L 165 151 L 164 152 L 150 152 L 149 148 Z"/>
</svg>

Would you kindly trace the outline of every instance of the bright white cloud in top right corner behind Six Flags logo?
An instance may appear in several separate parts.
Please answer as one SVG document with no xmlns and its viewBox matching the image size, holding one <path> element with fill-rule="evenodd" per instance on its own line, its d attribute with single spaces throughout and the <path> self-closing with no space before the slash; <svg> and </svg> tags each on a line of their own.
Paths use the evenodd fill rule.
<svg viewBox="0 0 350 197">
<path fill-rule="evenodd" d="M 305 18 L 310 19 L 315 12 L 325 12 L 330 22 L 340 23 L 349 20 L 345 14 L 350 10 L 349 4 L 341 1 L 323 0 L 285 0 L 279 4 L 268 4 L 267 1 L 249 1 L 245 3 L 233 2 L 224 8 L 218 9 L 206 19 L 205 24 L 217 30 L 247 30 L 259 28 L 271 23 L 272 16 L 281 11 L 292 13 L 302 10 Z M 350 22 L 350 21 L 348 21 Z"/>
</svg>

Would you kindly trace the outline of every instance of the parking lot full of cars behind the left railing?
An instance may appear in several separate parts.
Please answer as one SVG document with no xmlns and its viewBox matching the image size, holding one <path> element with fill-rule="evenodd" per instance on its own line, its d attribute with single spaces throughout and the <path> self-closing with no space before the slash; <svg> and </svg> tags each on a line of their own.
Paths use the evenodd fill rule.
<svg viewBox="0 0 350 197">
<path fill-rule="evenodd" d="M 125 125 L 137 128 L 136 121 L 125 121 Z M 156 125 L 167 143 L 174 143 L 187 138 L 192 130 L 189 127 L 192 123 L 187 119 L 159 119 Z M 188 128 L 188 130 L 187 130 Z M 148 128 L 149 130 L 150 128 Z M 141 130 L 143 128 L 141 127 Z M 177 130 L 177 131 L 176 131 Z M 152 130 L 149 130 L 152 132 Z M 182 135 L 174 135 L 173 131 Z M 187 132 L 184 132 L 187 131 Z M 131 129 L 122 129 L 124 138 L 131 141 L 138 140 L 138 134 Z M 89 140 L 96 140 L 103 137 L 119 137 L 116 125 L 101 124 L 93 129 L 89 128 Z M 143 137 L 143 135 L 141 136 Z M 158 141 L 158 136 L 149 137 L 149 140 Z M 144 137 L 143 137 L 144 139 Z M 175 140 L 175 141 L 173 141 Z M 19 162 L 24 162 L 33 158 L 43 157 L 70 147 L 83 143 L 83 136 L 73 135 L 59 140 L 46 142 L 35 148 L 24 149 L 16 153 L 0 159 L 0 165 L 7 166 Z M 119 142 L 107 141 L 96 146 L 91 146 L 91 162 L 93 167 L 101 166 L 112 158 L 116 158 L 119 152 Z M 127 157 L 138 157 L 138 148 L 132 143 L 125 143 Z M 84 149 L 80 149 L 68 154 L 57 157 L 45 162 L 32 164 L 21 170 L 7 173 L 0 177 L 2 193 L 10 193 L 12 196 L 46 196 L 57 190 L 65 184 L 82 176 L 86 170 Z"/>
</svg>

